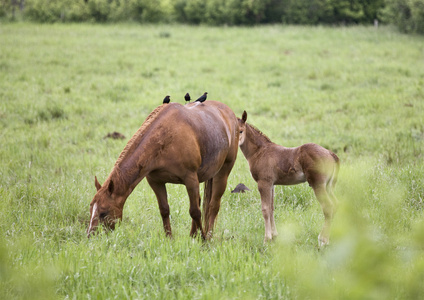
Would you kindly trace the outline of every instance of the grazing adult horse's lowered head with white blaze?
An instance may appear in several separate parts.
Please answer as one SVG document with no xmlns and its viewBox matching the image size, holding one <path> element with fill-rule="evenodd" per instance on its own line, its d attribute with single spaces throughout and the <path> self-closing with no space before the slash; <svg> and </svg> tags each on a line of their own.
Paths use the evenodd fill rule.
<svg viewBox="0 0 424 300">
<path fill-rule="evenodd" d="M 87 236 L 94 233 L 97 226 L 102 223 L 107 230 L 115 229 L 115 224 L 122 219 L 122 197 L 114 193 L 113 181 L 101 186 L 95 177 L 94 184 L 97 189 L 96 195 L 90 204 L 90 225 L 87 229 Z"/>
</svg>

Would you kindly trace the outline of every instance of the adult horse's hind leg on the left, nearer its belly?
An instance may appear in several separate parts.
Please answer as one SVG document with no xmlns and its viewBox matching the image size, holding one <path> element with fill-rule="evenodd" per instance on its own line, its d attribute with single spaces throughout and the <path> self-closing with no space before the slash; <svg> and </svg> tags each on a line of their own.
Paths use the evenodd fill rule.
<svg viewBox="0 0 424 300">
<path fill-rule="evenodd" d="M 190 200 L 190 216 L 194 221 L 194 224 L 192 223 L 190 235 L 194 237 L 197 233 L 196 229 L 199 229 L 200 234 L 202 235 L 202 239 L 205 239 L 205 234 L 202 228 L 202 212 L 200 211 L 199 203 L 199 179 L 197 178 L 197 174 L 193 173 L 188 175 L 185 179 L 184 184 L 186 186 L 188 197 Z"/>
</svg>

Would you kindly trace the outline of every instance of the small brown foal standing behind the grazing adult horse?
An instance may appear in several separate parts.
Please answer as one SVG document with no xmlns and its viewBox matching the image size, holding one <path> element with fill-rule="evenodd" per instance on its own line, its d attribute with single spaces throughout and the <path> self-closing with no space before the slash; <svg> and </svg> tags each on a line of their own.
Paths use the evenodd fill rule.
<svg viewBox="0 0 424 300">
<path fill-rule="evenodd" d="M 325 217 L 318 244 L 320 247 L 327 245 L 330 241 L 331 221 L 338 203 L 333 188 L 337 181 L 339 158 L 317 144 L 305 144 L 296 148 L 277 145 L 258 129 L 247 124 L 246 120 L 247 113 L 244 111 L 239 119 L 239 145 L 261 194 L 265 241 L 277 235 L 274 222 L 274 185 L 308 182 Z"/>
</svg>

